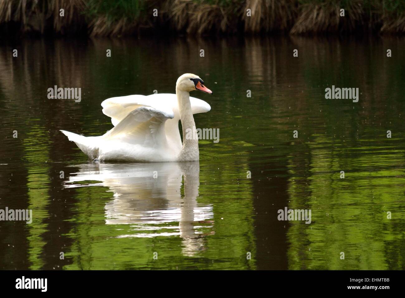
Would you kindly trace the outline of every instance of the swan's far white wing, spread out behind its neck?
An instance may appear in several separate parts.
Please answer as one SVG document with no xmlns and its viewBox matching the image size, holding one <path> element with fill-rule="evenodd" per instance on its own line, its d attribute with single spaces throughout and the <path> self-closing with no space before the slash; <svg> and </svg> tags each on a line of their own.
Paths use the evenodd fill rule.
<svg viewBox="0 0 405 298">
<path fill-rule="evenodd" d="M 211 110 L 211 106 L 201 99 L 190 96 L 190 103 L 193 114 L 205 113 Z M 142 105 L 147 105 L 155 109 L 172 109 L 174 118 L 180 119 L 177 95 L 172 93 L 159 93 L 148 96 L 119 96 L 106 99 L 101 103 L 103 107 L 102 112 L 104 115 L 111 117 L 111 122 L 114 126 L 124 119 L 128 113 Z"/>
</svg>

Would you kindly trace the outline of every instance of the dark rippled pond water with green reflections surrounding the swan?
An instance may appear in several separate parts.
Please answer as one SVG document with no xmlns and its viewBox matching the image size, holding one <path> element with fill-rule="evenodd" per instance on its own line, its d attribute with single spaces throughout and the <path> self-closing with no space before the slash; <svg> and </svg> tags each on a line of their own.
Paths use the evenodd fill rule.
<svg viewBox="0 0 405 298">
<path fill-rule="evenodd" d="M 0 209 L 32 209 L 33 221 L 0 221 L 0 268 L 404 269 L 404 48 L 2 41 Z M 101 135 L 112 127 L 104 99 L 174 93 L 187 72 L 214 92 L 191 94 L 211 105 L 197 126 L 220 129 L 219 143 L 200 141 L 199 162 L 92 163 L 58 131 Z M 81 102 L 48 99 L 54 85 L 80 87 Z M 358 103 L 325 99 L 332 85 L 359 88 Z M 311 224 L 278 221 L 284 207 L 311 209 Z"/>
</svg>

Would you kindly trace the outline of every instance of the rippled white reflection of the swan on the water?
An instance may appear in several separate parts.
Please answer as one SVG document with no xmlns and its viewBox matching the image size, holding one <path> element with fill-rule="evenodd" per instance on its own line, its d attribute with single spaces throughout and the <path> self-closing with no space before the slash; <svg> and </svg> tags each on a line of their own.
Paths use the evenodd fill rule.
<svg viewBox="0 0 405 298">
<path fill-rule="evenodd" d="M 183 254 L 194 255 L 204 249 L 203 236 L 213 234 L 213 208 L 196 200 L 199 174 L 198 161 L 89 163 L 65 187 L 108 187 L 113 199 L 104 206 L 105 223 L 130 225 L 130 233 L 118 237 L 179 236 Z"/>
</svg>

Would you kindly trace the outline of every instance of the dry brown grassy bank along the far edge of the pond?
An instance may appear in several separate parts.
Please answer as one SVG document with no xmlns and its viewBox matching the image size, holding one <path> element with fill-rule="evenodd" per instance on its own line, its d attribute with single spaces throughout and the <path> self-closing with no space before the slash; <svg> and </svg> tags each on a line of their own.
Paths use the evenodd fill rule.
<svg viewBox="0 0 405 298">
<path fill-rule="evenodd" d="M 12 29 L 90 36 L 145 31 L 403 34 L 405 0 L 1 0 L 0 31 Z"/>
</svg>

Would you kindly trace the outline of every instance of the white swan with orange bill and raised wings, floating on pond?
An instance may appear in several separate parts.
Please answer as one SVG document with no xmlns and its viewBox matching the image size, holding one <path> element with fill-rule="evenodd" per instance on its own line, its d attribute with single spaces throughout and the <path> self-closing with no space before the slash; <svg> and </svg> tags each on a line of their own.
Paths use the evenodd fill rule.
<svg viewBox="0 0 405 298">
<path fill-rule="evenodd" d="M 190 97 L 193 90 L 212 94 L 198 75 L 185 73 L 177 79 L 176 94 L 129 95 L 104 100 L 102 112 L 111 117 L 114 126 L 104 135 L 85 137 L 61 132 L 90 159 L 99 161 L 198 161 L 198 138 L 186 135 L 196 130 L 193 114 L 205 113 L 211 107 L 203 100 Z"/>
</svg>

